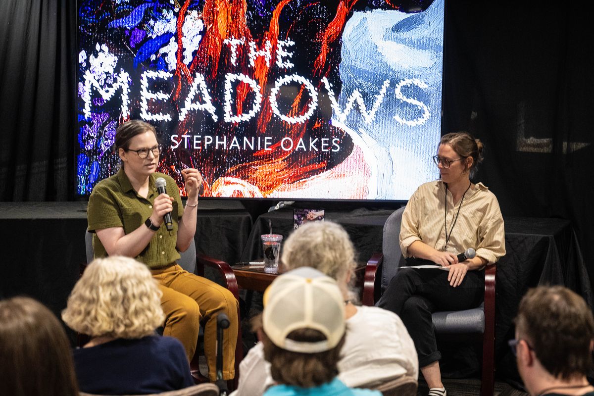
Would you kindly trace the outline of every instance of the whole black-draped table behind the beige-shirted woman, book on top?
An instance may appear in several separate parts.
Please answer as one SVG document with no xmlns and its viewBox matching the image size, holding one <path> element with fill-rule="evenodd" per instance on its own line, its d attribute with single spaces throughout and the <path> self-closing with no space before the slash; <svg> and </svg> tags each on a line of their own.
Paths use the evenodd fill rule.
<svg viewBox="0 0 594 396">
<path fill-rule="evenodd" d="M 345 227 L 359 252 L 359 261 L 381 251 L 383 226 L 392 210 L 358 209 L 349 212 L 326 211 L 326 220 Z M 261 260 L 260 235 L 272 232 L 283 235 L 293 230 L 293 210 L 283 208 L 263 214 L 254 222 L 242 261 Z M 592 288 L 576 235 L 568 220 L 557 218 L 505 217 L 507 254 L 497 264 L 497 297 L 495 305 L 495 359 L 500 378 L 517 379 L 516 363 L 507 347 L 514 338 L 513 318 L 520 299 L 529 289 L 543 284 L 561 284 L 575 290 L 592 306 Z M 398 243 L 397 240 L 394 243 Z M 282 249 L 282 247 L 281 247 Z M 467 360 L 464 360 L 467 362 Z M 454 370 L 457 373 L 478 372 L 476 367 Z"/>
</svg>

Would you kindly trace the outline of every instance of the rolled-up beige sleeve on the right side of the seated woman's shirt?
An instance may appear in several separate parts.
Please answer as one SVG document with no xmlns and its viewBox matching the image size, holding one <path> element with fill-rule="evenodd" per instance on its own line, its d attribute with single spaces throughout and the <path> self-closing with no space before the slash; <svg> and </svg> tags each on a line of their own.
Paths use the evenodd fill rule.
<svg viewBox="0 0 594 396">
<path fill-rule="evenodd" d="M 476 255 L 492 264 L 505 255 L 505 229 L 497 199 L 491 205 L 487 218 L 479 224 Z"/>
</svg>

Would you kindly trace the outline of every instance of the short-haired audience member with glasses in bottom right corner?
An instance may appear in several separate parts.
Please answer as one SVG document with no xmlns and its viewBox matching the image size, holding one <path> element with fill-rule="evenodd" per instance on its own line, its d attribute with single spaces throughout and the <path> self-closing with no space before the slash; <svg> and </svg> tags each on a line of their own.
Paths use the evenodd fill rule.
<svg viewBox="0 0 594 396">
<path fill-rule="evenodd" d="M 582 297 L 563 286 L 536 287 L 522 298 L 516 339 L 509 341 L 532 396 L 594 396 L 594 318 Z"/>
</svg>

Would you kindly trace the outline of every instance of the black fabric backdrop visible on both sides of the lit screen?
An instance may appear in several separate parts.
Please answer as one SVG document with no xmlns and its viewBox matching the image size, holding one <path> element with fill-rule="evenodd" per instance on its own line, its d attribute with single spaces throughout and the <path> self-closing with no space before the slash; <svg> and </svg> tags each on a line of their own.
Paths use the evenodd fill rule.
<svg viewBox="0 0 594 396">
<path fill-rule="evenodd" d="M 0 200 L 75 199 L 76 7 L 0 1 Z M 573 223 L 594 274 L 594 24 L 579 4 L 446 4 L 443 132 L 486 145 L 504 216 Z"/>
</svg>

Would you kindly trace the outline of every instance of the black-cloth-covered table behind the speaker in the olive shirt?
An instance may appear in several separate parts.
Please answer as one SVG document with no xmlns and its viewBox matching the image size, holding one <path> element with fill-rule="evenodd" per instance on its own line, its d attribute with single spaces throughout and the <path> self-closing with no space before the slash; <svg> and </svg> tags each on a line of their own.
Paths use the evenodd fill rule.
<svg viewBox="0 0 594 396">
<path fill-rule="evenodd" d="M 87 202 L 0 202 L 0 298 L 27 295 L 56 315 L 66 306 L 86 262 Z M 252 220 L 244 205 L 202 199 L 194 236 L 197 252 L 236 262 Z M 8 254 L 6 254 L 8 252 Z"/>
</svg>

